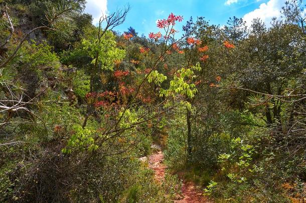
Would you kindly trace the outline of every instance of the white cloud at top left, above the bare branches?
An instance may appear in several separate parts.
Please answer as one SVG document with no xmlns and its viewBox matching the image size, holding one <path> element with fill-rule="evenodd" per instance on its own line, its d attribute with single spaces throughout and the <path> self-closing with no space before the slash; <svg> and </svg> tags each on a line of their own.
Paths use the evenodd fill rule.
<svg viewBox="0 0 306 203">
<path fill-rule="evenodd" d="M 107 0 L 87 0 L 85 13 L 92 15 L 92 23 L 96 25 L 100 17 L 107 14 Z"/>
</svg>

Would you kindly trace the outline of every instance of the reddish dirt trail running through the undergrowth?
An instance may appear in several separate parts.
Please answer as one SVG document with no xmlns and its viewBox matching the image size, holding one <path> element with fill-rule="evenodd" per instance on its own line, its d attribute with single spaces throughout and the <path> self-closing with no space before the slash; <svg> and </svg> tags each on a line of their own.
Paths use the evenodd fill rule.
<svg viewBox="0 0 306 203">
<path fill-rule="evenodd" d="M 165 169 L 167 168 L 164 161 L 164 154 L 159 151 L 156 154 L 149 156 L 148 162 L 149 167 L 155 171 L 155 178 L 158 181 L 163 181 L 165 177 Z M 196 187 L 193 182 L 183 182 L 182 193 L 184 195 L 183 199 L 174 200 L 176 203 L 197 203 L 197 202 L 210 202 L 202 195 L 200 188 Z"/>
</svg>

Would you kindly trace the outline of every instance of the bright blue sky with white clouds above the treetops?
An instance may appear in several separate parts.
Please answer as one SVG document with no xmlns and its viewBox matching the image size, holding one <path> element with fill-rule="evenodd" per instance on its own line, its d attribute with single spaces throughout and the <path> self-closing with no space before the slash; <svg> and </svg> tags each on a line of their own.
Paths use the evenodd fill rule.
<svg viewBox="0 0 306 203">
<path fill-rule="evenodd" d="M 136 30 L 138 35 L 148 35 L 158 32 L 158 19 L 168 18 L 169 14 L 183 16 L 182 26 L 192 16 L 205 17 L 210 24 L 224 26 L 230 17 L 243 18 L 249 26 L 254 18 L 260 18 L 267 26 L 273 17 L 281 18 L 281 7 L 286 0 L 87 0 L 85 13 L 93 16 L 93 24 L 97 24 L 102 14 L 111 14 L 116 9 L 127 4 L 130 11 L 126 21 L 114 30 L 123 33 L 129 27 Z"/>
</svg>

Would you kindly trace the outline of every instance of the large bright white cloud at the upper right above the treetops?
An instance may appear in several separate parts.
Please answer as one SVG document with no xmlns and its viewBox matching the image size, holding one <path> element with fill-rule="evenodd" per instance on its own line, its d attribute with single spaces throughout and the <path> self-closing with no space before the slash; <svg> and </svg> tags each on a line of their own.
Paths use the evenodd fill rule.
<svg viewBox="0 0 306 203">
<path fill-rule="evenodd" d="M 280 11 L 285 2 L 286 0 L 270 0 L 267 3 L 261 4 L 258 9 L 245 14 L 243 20 L 246 21 L 247 26 L 250 26 L 253 19 L 260 18 L 269 27 L 272 18 L 281 18 Z"/>
</svg>

